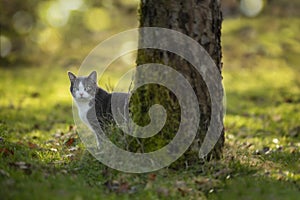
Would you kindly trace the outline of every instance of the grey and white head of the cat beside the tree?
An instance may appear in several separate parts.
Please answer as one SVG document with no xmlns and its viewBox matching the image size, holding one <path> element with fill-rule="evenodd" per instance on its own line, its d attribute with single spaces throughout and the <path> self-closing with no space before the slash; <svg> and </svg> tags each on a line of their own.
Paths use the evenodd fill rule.
<svg viewBox="0 0 300 200">
<path fill-rule="evenodd" d="M 76 101 L 90 101 L 95 97 L 97 91 L 97 72 L 93 71 L 88 76 L 76 77 L 68 72 L 71 81 L 70 91 Z"/>
</svg>

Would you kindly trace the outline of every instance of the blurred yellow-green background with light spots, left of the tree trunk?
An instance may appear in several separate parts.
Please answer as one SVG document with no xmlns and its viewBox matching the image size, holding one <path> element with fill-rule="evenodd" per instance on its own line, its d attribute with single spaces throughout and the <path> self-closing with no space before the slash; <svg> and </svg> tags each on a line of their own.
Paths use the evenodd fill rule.
<svg viewBox="0 0 300 200">
<path fill-rule="evenodd" d="M 79 66 L 103 39 L 137 27 L 138 0 L 1 1 L 1 64 Z"/>
</svg>

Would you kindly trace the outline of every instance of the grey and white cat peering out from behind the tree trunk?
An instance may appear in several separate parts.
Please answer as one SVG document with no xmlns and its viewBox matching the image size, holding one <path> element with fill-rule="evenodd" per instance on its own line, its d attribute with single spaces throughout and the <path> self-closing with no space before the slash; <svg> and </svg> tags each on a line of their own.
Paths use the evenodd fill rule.
<svg viewBox="0 0 300 200">
<path fill-rule="evenodd" d="M 100 88 L 97 84 L 96 71 L 88 76 L 78 77 L 68 72 L 68 76 L 71 83 L 70 92 L 81 121 L 96 134 L 101 134 L 107 125 L 115 124 L 112 116 L 112 96 L 115 95 L 118 106 L 123 110 L 128 106 L 129 93 L 109 93 Z M 101 132 L 97 129 L 98 125 L 102 129 Z M 97 145 L 99 145 L 98 141 Z"/>
</svg>

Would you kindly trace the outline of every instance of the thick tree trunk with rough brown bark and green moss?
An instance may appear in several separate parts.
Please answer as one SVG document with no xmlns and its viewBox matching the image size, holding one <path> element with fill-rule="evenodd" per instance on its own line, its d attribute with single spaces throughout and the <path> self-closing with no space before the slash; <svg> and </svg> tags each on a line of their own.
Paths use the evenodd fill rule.
<svg viewBox="0 0 300 200">
<path fill-rule="evenodd" d="M 221 23 L 222 14 L 219 0 L 141 0 L 140 3 L 140 27 L 161 27 L 172 29 L 193 38 L 201 44 L 214 60 L 221 73 Z M 143 42 L 143 34 L 140 34 L 140 45 Z M 176 41 L 174 40 L 174 43 Z M 172 67 L 181 73 L 191 84 L 198 98 L 201 118 L 196 139 L 186 151 L 180 161 L 185 164 L 195 163 L 198 159 L 198 151 L 206 135 L 211 120 L 211 99 L 207 85 L 202 76 L 195 71 L 189 62 L 174 53 L 158 49 L 139 49 L 137 66 L 146 63 L 160 63 Z M 143 76 L 137 72 L 136 82 Z M 223 95 L 223 94 L 222 94 Z M 219 102 L 222 104 L 222 102 Z M 132 151 L 151 152 L 168 144 L 179 127 L 180 106 L 178 99 L 166 87 L 157 84 L 148 84 L 140 87 L 132 97 L 131 111 L 133 119 L 141 126 L 150 123 L 149 108 L 153 104 L 160 104 L 167 110 L 167 120 L 159 134 L 151 139 L 139 139 L 131 143 Z M 220 116 L 223 113 L 219 113 Z M 210 158 L 220 158 L 224 145 L 224 128 L 221 121 L 221 137 L 208 155 Z M 182 162 L 177 162 L 182 163 Z"/>
</svg>

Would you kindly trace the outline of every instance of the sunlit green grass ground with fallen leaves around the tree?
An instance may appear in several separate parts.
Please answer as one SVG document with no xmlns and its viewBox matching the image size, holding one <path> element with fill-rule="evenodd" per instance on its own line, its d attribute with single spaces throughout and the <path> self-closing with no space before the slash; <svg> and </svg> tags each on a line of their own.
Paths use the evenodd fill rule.
<svg viewBox="0 0 300 200">
<path fill-rule="evenodd" d="M 1 66 L 1 199 L 298 199 L 300 19 L 223 27 L 224 157 L 188 169 L 107 169 L 76 133 L 70 69 Z"/>
</svg>

